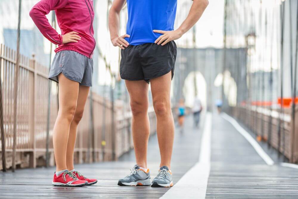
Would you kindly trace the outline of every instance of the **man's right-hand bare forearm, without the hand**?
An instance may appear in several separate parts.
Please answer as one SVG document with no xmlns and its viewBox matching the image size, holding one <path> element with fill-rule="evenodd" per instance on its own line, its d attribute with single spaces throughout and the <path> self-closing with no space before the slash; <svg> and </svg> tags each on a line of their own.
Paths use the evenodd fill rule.
<svg viewBox="0 0 298 199">
<path fill-rule="evenodd" d="M 208 6 L 208 0 L 193 0 L 193 5 L 190 8 L 190 12 L 181 26 L 177 29 L 181 35 L 186 33 L 195 23 L 201 18 L 204 10 Z"/>
</svg>

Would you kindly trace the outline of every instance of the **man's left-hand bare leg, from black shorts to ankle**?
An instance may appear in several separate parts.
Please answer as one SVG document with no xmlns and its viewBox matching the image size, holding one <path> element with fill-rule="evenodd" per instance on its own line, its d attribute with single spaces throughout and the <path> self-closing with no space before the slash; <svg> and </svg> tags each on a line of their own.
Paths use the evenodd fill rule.
<svg viewBox="0 0 298 199">
<path fill-rule="evenodd" d="M 147 168 L 147 148 L 150 134 L 148 117 L 148 84 L 145 81 L 128 81 L 125 84 L 130 96 L 132 112 L 132 136 L 136 163 Z"/>
</svg>

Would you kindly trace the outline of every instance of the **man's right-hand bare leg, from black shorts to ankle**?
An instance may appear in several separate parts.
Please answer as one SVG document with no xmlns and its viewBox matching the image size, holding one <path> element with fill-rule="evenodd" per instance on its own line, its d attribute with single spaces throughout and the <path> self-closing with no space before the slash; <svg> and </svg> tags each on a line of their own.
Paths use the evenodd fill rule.
<svg viewBox="0 0 298 199">
<path fill-rule="evenodd" d="M 167 166 L 169 169 L 174 142 L 174 119 L 170 101 L 171 81 L 171 72 L 162 77 L 150 79 L 153 107 L 157 118 L 160 166 Z"/>
</svg>

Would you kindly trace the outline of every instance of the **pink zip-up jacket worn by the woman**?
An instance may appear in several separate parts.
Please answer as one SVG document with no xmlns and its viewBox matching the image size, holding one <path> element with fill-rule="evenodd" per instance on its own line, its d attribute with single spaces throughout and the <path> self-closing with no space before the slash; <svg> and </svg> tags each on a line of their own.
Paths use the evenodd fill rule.
<svg viewBox="0 0 298 199">
<path fill-rule="evenodd" d="M 52 28 L 46 18 L 51 10 L 55 10 L 61 34 L 75 31 L 79 33 L 80 41 L 62 44 L 62 36 Z M 41 0 L 30 10 L 30 17 L 49 41 L 59 45 L 55 49 L 56 53 L 72 50 L 92 58 L 95 48 L 93 10 L 93 0 Z"/>
</svg>

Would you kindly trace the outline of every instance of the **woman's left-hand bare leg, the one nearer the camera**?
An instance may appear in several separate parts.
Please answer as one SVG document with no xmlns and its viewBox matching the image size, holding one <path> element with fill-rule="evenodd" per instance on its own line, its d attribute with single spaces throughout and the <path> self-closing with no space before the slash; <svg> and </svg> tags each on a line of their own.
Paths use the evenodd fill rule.
<svg viewBox="0 0 298 199">
<path fill-rule="evenodd" d="M 66 146 L 69 127 L 75 115 L 79 83 L 66 78 L 62 73 L 59 79 L 59 111 L 53 130 L 53 145 L 56 171 L 67 169 Z"/>
</svg>

